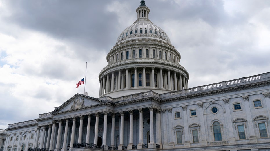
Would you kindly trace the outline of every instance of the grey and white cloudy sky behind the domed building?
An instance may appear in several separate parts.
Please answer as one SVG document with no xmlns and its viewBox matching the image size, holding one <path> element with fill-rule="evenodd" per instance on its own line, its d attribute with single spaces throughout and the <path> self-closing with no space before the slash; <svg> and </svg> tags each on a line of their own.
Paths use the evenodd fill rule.
<svg viewBox="0 0 270 151">
<path fill-rule="evenodd" d="M 145 0 L 181 54 L 189 87 L 270 72 L 269 0 Z M 0 0 L 0 129 L 53 111 L 99 72 L 140 0 Z"/>
</svg>

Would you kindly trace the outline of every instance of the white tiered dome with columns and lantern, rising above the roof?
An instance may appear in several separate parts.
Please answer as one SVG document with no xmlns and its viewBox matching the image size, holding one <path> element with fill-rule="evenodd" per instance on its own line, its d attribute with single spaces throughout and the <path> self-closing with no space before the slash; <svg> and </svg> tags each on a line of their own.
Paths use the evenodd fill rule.
<svg viewBox="0 0 270 151">
<path fill-rule="evenodd" d="M 149 20 L 141 1 L 137 20 L 124 29 L 99 74 L 99 97 L 121 97 L 146 91 L 158 94 L 188 88 L 189 74 L 179 64 L 181 55 L 164 30 Z"/>
</svg>

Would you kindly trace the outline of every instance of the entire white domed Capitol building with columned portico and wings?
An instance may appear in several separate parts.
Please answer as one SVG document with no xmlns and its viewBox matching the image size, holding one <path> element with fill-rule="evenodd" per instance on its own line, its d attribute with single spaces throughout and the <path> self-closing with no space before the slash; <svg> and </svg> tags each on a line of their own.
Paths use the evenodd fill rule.
<svg viewBox="0 0 270 151">
<path fill-rule="evenodd" d="M 75 94 L 9 124 L 2 151 L 270 151 L 270 72 L 189 88 L 180 53 L 144 0 L 136 12 L 106 57 L 99 98 Z"/>
</svg>

